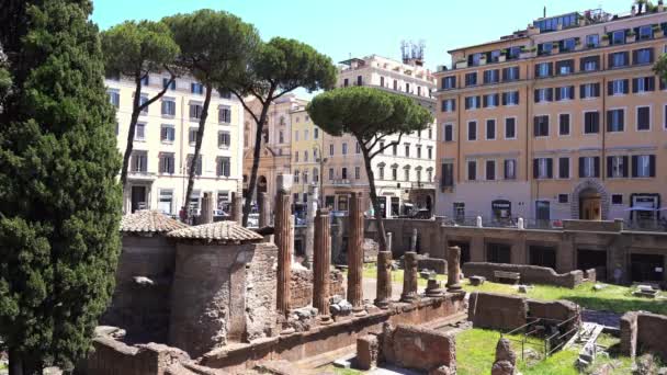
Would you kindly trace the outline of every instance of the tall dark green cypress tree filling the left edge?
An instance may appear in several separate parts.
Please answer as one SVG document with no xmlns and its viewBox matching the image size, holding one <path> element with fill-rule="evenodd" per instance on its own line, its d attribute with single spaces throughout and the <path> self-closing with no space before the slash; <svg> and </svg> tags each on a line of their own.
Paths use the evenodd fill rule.
<svg viewBox="0 0 667 375">
<path fill-rule="evenodd" d="M 3 0 L 0 338 L 10 374 L 71 370 L 113 292 L 120 155 L 89 0 Z"/>
</svg>

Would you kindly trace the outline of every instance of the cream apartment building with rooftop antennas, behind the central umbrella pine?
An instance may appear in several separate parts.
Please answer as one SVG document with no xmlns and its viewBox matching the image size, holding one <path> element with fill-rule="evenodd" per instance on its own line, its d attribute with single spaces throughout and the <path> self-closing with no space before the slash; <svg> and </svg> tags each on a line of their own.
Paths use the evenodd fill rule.
<svg viewBox="0 0 667 375">
<path fill-rule="evenodd" d="M 436 106 L 431 98 L 434 80 L 431 71 L 422 66 L 421 56 L 404 54 L 404 60 L 397 61 L 371 55 L 341 61 L 337 86 L 368 86 L 407 95 L 432 111 Z M 398 136 L 387 136 L 377 147 L 395 140 Z M 370 208 L 369 180 L 357 139 L 351 135 L 332 137 L 325 134 L 323 144 L 326 158 L 323 171 L 325 205 L 344 212 L 353 192 L 361 194 Z M 434 124 L 423 132 L 404 135 L 400 144 L 377 155 L 372 162 L 385 217 L 406 214 L 414 207 L 432 209 L 436 193 Z"/>
</svg>

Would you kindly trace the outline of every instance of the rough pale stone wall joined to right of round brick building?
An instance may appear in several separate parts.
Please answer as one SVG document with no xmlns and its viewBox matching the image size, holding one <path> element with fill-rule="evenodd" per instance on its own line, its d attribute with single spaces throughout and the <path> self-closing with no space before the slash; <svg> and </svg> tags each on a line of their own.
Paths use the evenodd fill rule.
<svg viewBox="0 0 667 375">
<path fill-rule="evenodd" d="M 278 248 L 258 243 L 252 261 L 246 268 L 246 338 L 255 340 L 275 332 L 275 268 Z"/>
</svg>

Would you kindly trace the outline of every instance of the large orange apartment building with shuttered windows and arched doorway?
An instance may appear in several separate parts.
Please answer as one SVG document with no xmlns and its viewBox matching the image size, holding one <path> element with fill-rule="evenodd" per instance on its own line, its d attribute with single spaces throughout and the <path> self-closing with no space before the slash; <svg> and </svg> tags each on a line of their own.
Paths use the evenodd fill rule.
<svg viewBox="0 0 667 375">
<path fill-rule="evenodd" d="M 658 223 L 667 13 L 541 18 L 450 50 L 438 89 L 438 215 Z"/>
</svg>

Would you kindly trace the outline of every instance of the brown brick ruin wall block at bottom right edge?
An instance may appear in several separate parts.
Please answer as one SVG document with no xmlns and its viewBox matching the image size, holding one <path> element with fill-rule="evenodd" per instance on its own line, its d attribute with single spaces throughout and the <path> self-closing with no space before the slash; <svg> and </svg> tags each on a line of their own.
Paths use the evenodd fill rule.
<svg viewBox="0 0 667 375">
<path fill-rule="evenodd" d="M 666 337 L 667 316 L 631 311 L 621 318 L 621 352 L 625 355 L 656 353 L 667 360 Z"/>
</svg>

